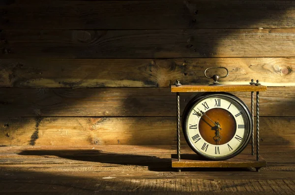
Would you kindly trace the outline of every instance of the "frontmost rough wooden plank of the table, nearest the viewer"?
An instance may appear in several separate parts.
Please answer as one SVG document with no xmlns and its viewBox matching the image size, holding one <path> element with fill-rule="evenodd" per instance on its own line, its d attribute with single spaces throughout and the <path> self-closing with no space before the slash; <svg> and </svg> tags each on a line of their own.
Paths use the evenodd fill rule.
<svg viewBox="0 0 295 195">
<path fill-rule="evenodd" d="M 242 176 L 240 176 L 242 179 L 232 179 L 230 177 L 237 173 L 228 171 L 227 179 L 217 179 L 218 173 L 211 171 L 215 174 L 215 178 L 211 176 L 210 179 L 203 179 L 203 175 L 210 174 L 209 171 L 205 173 L 194 171 L 194 176 L 189 175 L 186 178 L 175 172 L 164 171 L 162 172 L 163 176 L 159 176 L 161 172 L 155 172 L 153 176 L 148 172 L 154 171 L 128 171 L 127 174 L 120 173 L 119 170 L 108 174 L 107 172 L 74 171 L 70 175 L 69 171 L 61 171 L 61 173 L 17 172 L 5 168 L 1 176 L 8 179 L 1 180 L 0 186 L 3 188 L 3 194 L 25 194 L 25 191 L 27 194 L 37 193 L 41 195 L 64 194 L 64 192 L 72 195 L 232 195 L 237 193 L 239 195 L 294 195 L 295 180 L 293 178 L 257 179 L 259 176 L 251 173 L 252 178 L 250 179 L 244 179 Z M 115 174 L 112 175 L 111 173 Z M 131 176 L 126 176 L 129 173 Z M 290 175 L 291 173 L 291 171 L 288 171 L 285 174 Z M 27 174 L 26 178 L 24 178 L 25 174 Z M 276 175 L 274 171 L 271 174 L 274 177 Z M 283 172 L 277 174 L 282 175 Z M 240 175 L 242 174 L 240 173 Z M 53 177 L 55 179 L 52 179 Z M 205 178 L 208 178 L 208 176 Z"/>
</svg>

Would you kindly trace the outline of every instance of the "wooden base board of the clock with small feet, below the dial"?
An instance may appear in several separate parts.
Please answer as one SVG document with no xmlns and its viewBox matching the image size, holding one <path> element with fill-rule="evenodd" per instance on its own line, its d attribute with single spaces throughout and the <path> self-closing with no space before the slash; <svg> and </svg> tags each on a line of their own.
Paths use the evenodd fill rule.
<svg viewBox="0 0 295 195">
<path fill-rule="evenodd" d="M 266 167 L 266 161 L 262 157 L 257 161 L 256 155 L 246 154 L 239 154 L 224 161 L 210 161 L 196 154 L 181 154 L 180 159 L 177 160 L 176 154 L 171 155 L 172 167 L 177 168 L 178 172 L 187 167 L 256 168 L 256 171 Z"/>
</svg>

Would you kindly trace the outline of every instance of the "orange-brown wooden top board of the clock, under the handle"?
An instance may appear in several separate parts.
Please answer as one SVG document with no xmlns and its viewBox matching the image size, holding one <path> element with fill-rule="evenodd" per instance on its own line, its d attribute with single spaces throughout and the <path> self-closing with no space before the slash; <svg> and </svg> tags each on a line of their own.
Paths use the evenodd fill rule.
<svg viewBox="0 0 295 195">
<path fill-rule="evenodd" d="M 204 86 L 204 85 L 181 85 L 181 86 L 171 86 L 171 92 L 234 92 L 234 91 L 266 91 L 266 86 L 264 85 L 214 85 L 214 86 Z"/>
</svg>

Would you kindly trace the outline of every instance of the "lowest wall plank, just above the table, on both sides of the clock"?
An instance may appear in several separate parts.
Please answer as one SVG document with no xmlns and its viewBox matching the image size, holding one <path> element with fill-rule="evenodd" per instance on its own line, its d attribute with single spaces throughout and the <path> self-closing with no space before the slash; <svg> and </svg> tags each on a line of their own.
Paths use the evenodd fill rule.
<svg viewBox="0 0 295 195">
<path fill-rule="evenodd" d="M 176 117 L 0 118 L 0 124 L 2 146 L 176 144 Z M 260 117 L 260 144 L 295 145 L 294 126 L 295 117 Z"/>
</svg>

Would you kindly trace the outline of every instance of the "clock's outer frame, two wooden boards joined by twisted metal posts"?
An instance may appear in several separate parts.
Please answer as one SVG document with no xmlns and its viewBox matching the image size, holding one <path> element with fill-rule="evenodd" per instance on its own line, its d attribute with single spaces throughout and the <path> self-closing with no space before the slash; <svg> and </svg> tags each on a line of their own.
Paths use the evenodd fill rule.
<svg viewBox="0 0 295 195">
<path fill-rule="evenodd" d="M 177 81 L 176 85 L 171 86 L 171 92 L 176 92 L 177 98 L 177 155 L 172 154 L 172 167 L 180 172 L 184 167 L 239 167 L 256 168 L 266 167 L 266 161 L 259 155 L 259 92 L 266 91 L 266 86 L 253 82 L 250 85 L 181 85 Z M 181 92 L 251 92 L 251 117 L 254 123 L 254 92 L 256 92 L 256 158 L 254 155 L 254 124 L 251 135 L 251 154 L 238 154 L 228 160 L 211 161 L 205 160 L 197 154 L 180 155 L 180 105 L 179 98 Z"/>
</svg>

